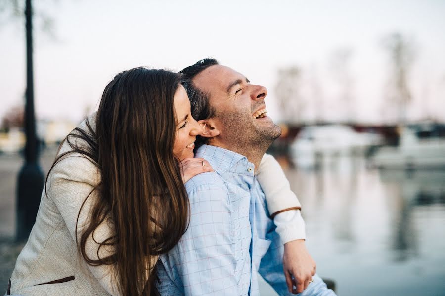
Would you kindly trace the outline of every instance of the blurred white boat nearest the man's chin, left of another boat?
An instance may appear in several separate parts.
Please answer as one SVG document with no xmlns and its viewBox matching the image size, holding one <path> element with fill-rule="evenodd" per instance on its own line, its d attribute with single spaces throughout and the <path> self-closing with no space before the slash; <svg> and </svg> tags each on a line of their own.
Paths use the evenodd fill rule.
<svg viewBox="0 0 445 296">
<path fill-rule="evenodd" d="M 381 143 L 381 135 L 356 132 L 345 125 L 308 126 L 290 145 L 290 156 L 298 167 L 315 168 L 339 157 L 365 155 L 371 146 Z"/>
</svg>

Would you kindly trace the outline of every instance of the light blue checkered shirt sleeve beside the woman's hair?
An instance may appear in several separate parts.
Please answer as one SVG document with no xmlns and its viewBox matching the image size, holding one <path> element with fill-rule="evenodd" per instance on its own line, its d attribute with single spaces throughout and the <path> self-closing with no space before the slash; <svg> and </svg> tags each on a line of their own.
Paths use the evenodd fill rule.
<svg viewBox="0 0 445 296">
<path fill-rule="evenodd" d="M 178 244 L 160 256 L 158 290 L 161 295 L 238 295 L 227 189 L 205 184 L 187 192 L 190 224 Z"/>
</svg>

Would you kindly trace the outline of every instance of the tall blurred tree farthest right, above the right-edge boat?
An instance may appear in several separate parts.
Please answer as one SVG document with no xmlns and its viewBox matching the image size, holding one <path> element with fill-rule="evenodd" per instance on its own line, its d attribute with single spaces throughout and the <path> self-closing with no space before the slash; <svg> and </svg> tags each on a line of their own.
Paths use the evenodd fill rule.
<svg viewBox="0 0 445 296">
<path fill-rule="evenodd" d="M 407 107 L 412 100 L 408 87 L 408 76 L 415 60 L 414 42 L 401 33 L 391 33 L 382 39 L 390 62 L 390 74 L 385 87 L 388 100 L 386 106 L 395 111 L 395 121 L 407 122 Z M 388 109 L 388 108 L 385 108 Z M 391 116 L 391 115 L 390 115 Z"/>
</svg>

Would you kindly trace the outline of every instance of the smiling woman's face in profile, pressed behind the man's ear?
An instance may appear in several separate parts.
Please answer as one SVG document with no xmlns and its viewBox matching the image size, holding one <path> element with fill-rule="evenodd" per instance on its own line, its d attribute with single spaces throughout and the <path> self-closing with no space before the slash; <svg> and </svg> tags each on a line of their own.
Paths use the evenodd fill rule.
<svg viewBox="0 0 445 296">
<path fill-rule="evenodd" d="M 177 120 L 173 154 L 175 154 L 179 160 L 183 160 L 187 157 L 193 157 L 195 139 L 197 135 L 202 133 L 202 127 L 200 127 L 191 116 L 190 100 L 182 85 L 179 85 L 173 96 L 173 105 L 175 107 Z"/>
</svg>

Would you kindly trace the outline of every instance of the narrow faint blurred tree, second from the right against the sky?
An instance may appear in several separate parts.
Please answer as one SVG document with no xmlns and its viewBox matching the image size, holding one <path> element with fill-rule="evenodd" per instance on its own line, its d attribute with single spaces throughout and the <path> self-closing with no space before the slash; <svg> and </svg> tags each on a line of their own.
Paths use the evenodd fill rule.
<svg viewBox="0 0 445 296">
<path fill-rule="evenodd" d="M 351 59 L 353 50 L 348 47 L 339 48 L 332 52 L 329 69 L 339 87 L 339 104 L 343 110 L 342 116 L 348 122 L 354 121 L 355 106 L 353 95 L 353 78 L 351 75 Z"/>
</svg>

